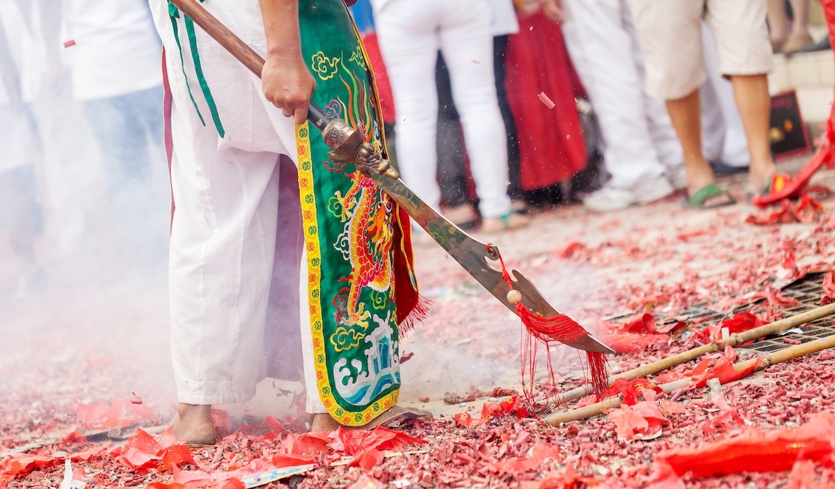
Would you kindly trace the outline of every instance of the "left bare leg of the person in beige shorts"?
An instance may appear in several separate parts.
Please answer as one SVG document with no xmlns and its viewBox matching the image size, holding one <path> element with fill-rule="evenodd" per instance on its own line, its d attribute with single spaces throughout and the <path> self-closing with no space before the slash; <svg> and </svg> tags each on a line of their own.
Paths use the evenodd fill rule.
<svg viewBox="0 0 835 489">
<path fill-rule="evenodd" d="M 670 113 L 673 128 L 676 129 L 676 134 L 681 141 L 681 149 L 684 150 L 687 192 L 691 195 L 716 180 L 711 165 L 707 163 L 705 155 L 701 152 L 699 104 L 699 90 L 694 90 L 685 98 L 667 100 L 667 112 Z"/>
</svg>

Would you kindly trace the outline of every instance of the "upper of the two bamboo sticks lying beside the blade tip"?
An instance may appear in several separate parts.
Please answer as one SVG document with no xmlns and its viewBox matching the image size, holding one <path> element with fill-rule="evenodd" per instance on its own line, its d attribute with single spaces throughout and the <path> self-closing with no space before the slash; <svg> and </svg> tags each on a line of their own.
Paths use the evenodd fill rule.
<svg viewBox="0 0 835 489">
<path fill-rule="evenodd" d="M 638 377 L 651 376 L 676 365 L 681 365 L 686 361 L 699 358 L 701 355 L 705 355 L 706 353 L 724 350 L 725 345 L 741 345 L 742 343 L 757 340 L 767 335 L 773 335 L 774 333 L 779 333 L 781 331 L 791 330 L 799 325 L 811 323 L 813 320 L 819 320 L 827 315 L 835 315 L 835 303 L 823 305 L 813 310 L 807 310 L 804 313 L 793 315 L 792 317 L 777 320 L 773 323 L 762 325 L 752 330 L 743 331 L 736 335 L 731 335 L 724 340 L 716 340 L 709 345 L 697 346 L 691 350 L 682 351 L 679 354 L 668 356 L 667 358 L 662 358 L 661 360 L 654 361 L 646 365 L 641 365 L 640 367 L 634 368 L 630 371 L 621 372 L 620 374 L 609 377 L 609 385 L 611 386 L 618 379 L 631 381 L 633 379 L 637 379 Z M 560 402 L 574 401 L 580 397 L 588 396 L 591 394 L 591 391 L 592 387 L 586 385 L 572 389 L 571 391 L 565 391 L 564 393 L 559 394 L 557 398 Z"/>
</svg>

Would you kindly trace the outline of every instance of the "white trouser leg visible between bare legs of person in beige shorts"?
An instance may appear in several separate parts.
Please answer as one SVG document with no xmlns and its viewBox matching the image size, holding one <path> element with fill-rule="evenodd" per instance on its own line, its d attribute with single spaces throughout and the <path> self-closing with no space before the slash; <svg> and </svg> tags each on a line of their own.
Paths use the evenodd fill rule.
<svg viewBox="0 0 835 489">
<path fill-rule="evenodd" d="M 702 150 L 708 161 L 746 167 L 750 161 L 748 139 L 731 82 L 722 77 L 716 42 L 711 29 L 701 24 L 702 52 L 705 53 L 707 81 L 701 85 Z"/>
</svg>

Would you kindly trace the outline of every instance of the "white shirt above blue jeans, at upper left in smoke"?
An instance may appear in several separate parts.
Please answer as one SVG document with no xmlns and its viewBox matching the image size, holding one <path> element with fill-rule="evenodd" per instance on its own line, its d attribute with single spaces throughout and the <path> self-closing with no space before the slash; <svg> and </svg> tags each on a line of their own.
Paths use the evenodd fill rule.
<svg viewBox="0 0 835 489">
<path fill-rule="evenodd" d="M 73 97 L 119 97 L 162 84 L 162 44 L 147 0 L 63 0 L 63 48 Z"/>
</svg>

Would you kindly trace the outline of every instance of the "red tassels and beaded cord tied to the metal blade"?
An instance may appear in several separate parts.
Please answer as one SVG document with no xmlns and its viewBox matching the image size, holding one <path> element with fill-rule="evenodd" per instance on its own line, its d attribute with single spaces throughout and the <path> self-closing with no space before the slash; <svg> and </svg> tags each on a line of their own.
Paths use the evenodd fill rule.
<svg viewBox="0 0 835 489">
<path fill-rule="evenodd" d="M 489 247 L 490 244 L 488 244 L 488 249 Z M 549 345 L 554 341 L 568 343 L 576 340 L 580 336 L 588 334 L 588 331 L 586 331 L 583 326 L 579 325 L 567 315 L 558 314 L 552 317 L 535 315 L 528 309 L 528 306 L 523 304 L 523 297 L 519 291 L 514 290 L 513 280 L 510 279 L 510 274 L 504 266 L 504 260 L 501 255 L 498 256 L 498 261 L 502 265 L 502 279 L 511 290 L 511 292 L 508 293 L 508 300 L 516 305 L 516 315 L 519 315 L 519 319 L 522 320 L 525 330 L 527 330 L 529 335 L 533 336 L 535 340 L 542 341 L 545 347 L 549 348 Z M 536 346 L 534 344 L 532 349 L 533 351 L 529 351 L 531 350 L 532 345 L 525 345 L 525 343 L 526 342 L 523 342 L 522 345 L 524 350 L 522 359 L 523 363 L 524 360 L 529 360 L 529 375 L 531 376 L 531 381 L 533 381 L 536 361 Z M 606 357 L 602 353 L 587 351 L 586 360 L 589 363 L 589 380 L 591 386 L 594 388 L 595 396 L 597 396 L 598 400 L 603 399 L 609 391 L 609 371 L 608 364 L 606 363 Z M 550 369 L 550 358 L 548 362 L 549 372 L 551 373 L 551 377 L 553 379 L 554 374 Z M 524 386 L 524 372 L 522 383 Z"/>
</svg>

